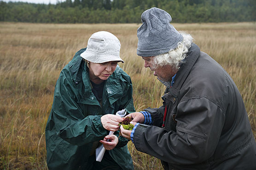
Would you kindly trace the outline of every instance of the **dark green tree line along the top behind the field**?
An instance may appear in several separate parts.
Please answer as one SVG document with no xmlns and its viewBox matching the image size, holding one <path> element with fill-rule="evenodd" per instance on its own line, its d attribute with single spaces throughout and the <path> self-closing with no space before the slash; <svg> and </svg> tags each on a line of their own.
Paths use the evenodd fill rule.
<svg viewBox="0 0 256 170">
<path fill-rule="evenodd" d="M 256 21 L 256 0 L 58 0 L 56 5 L 0 0 L 0 21 L 140 23 L 151 7 L 169 12 L 178 23 Z"/>
</svg>

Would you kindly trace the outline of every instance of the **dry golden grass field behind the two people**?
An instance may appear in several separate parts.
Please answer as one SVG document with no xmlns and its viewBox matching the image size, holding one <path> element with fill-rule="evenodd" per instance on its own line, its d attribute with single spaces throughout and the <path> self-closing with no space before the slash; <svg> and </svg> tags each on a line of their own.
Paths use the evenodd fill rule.
<svg viewBox="0 0 256 170">
<path fill-rule="evenodd" d="M 164 87 L 136 55 L 140 24 L 33 24 L 0 22 L 0 169 L 47 169 L 45 126 L 61 69 L 92 33 L 121 41 L 120 66 L 132 78 L 134 106 L 162 104 Z M 231 75 L 256 136 L 256 23 L 174 24 Z M 135 170 L 162 170 L 158 159 L 129 142 Z"/>
</svg>

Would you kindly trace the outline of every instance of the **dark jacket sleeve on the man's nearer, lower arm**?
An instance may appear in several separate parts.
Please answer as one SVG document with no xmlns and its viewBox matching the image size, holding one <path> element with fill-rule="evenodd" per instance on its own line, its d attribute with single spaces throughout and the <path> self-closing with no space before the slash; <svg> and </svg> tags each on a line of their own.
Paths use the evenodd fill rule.
<svg viewBox="0 0 256 170">
<path fill-rule="evenodd" d="M 209 159 L 224 125 L 223 111 L 209 99 L 189 99 L 178 104 L 175 120 L 176 132 L 137 126 L 135 148 L 172 164 L 189 165 Z"/>
</svg>

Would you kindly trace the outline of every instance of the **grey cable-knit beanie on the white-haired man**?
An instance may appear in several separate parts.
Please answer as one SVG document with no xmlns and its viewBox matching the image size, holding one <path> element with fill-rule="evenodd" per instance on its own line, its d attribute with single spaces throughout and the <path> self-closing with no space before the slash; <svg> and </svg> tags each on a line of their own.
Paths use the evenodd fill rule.
<svg viewBox="0 0 256 170">
<path fill-rule="evenodd" d="M 142 57 L 156 56 L 175 49 L 183 36 L 170 22 L 171 16 L 159 8 L 151 8 L 141 15 L 142 25 L 137 30 L 137 55 Z"/>
</svg>

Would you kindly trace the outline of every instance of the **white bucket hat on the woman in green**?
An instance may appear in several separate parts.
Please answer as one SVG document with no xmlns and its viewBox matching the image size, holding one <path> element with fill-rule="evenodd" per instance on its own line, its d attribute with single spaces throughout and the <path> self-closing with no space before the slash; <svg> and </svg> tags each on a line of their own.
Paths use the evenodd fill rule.
<svg viewBox="0 0 256 170">
<path fill-rule="evenodd" d="M 80 55 L 93 63 L 122 61 L 120 58 L 120 41 L 115 35 L 106 31 L 93 33 L 88 39 L 87 49 Z"/>
</svg>

